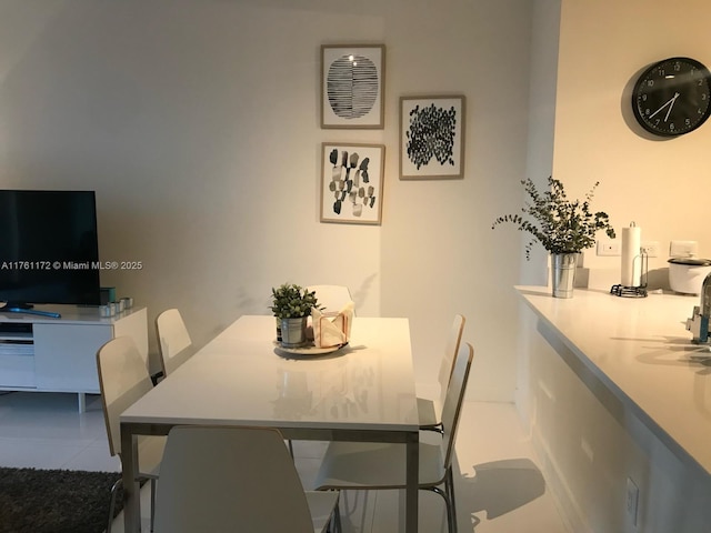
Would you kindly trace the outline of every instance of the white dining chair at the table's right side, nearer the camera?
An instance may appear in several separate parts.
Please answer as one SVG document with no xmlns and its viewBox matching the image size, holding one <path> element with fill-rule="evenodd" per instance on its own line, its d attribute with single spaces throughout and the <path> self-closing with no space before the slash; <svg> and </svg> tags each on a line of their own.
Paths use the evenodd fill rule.
<svg viewBox="0 0 711 533">
<path fill-rule="evenodd" d="M 449 533 L 457 531 L 452 457 L 473 354 L 469 343 L 461 345 L 457 354 L 442 410 L 441 442 L 429 442 L 423 439 L 424 432 L 420 436 L 419 489 L 442 496 Z M 405 480 L 404 444 L 338 441 L 329 444 L 314 486 L 320 491 L 404 489 Z"/>
</svg>

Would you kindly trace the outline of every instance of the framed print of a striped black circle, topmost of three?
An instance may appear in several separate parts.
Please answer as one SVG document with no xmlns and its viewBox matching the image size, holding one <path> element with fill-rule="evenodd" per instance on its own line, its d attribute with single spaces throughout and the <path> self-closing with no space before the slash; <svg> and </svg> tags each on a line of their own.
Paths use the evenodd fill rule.
<svg viewBox="0 0 711 533">
<path fill-rule="evenodd" d="M 321 128 L 384 128 L 384 44 L 321 46 Z"/>
</svg>

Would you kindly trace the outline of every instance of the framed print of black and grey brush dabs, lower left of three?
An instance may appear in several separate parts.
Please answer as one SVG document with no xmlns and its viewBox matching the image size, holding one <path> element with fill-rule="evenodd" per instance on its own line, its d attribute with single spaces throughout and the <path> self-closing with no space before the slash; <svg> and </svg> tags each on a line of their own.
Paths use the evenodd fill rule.
<svg viewBox="0 0 711 533">
<path fill-rule="evenodd" d="M 384 144 L 321 144 L 321 222 L 380 225 Z"/>
</svg>

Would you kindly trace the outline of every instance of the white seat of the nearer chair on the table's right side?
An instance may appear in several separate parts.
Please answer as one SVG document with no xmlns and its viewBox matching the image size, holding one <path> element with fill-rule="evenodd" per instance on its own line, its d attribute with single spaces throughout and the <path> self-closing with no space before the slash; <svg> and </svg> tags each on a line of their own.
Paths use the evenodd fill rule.
<svg viewBox="0 0 711 533">
<path fill-rule="evenodd" d="M 316 479 L 324 489 L 402 489 L 407 483 L 405 445 L 381 442 L 332 442 Z M 441 446 L 420 439 L 420 486 L 444 481 Z"/>
</svg>

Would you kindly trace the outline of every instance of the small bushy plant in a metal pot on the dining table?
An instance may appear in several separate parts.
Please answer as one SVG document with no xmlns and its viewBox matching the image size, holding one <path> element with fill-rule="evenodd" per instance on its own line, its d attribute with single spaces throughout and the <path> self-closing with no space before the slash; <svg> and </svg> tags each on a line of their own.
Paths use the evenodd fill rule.
<svg viewBox="0 0 711 533">
<path fill-rule="evenodd" d="M 293 283 L 283 283 L 271 289 L 272 313 L 277 318 L 277 339 L 286 348 L 298 348 L 307 343 L 307 319 L 318 308 L 314 291 Z"/>
</svg>

